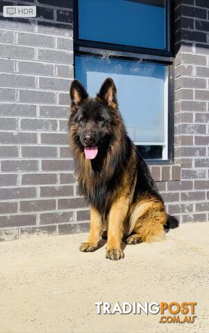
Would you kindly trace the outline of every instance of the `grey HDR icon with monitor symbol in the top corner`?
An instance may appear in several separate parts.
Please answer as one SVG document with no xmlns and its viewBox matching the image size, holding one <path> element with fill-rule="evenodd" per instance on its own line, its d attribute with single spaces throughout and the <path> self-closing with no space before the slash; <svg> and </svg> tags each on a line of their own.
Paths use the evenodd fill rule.
<svg viewBox="0 0 209 333">
<path fill-rule="evenodd" d="M 3 17 L 36 17 L 36 6 L 3 6 Z"/>
</svg>

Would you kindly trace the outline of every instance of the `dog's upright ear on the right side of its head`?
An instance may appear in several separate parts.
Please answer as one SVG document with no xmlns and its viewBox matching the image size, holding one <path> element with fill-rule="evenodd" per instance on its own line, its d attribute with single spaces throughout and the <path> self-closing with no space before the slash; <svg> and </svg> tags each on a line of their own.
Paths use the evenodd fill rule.
<svg viewBox="0 0 209 333">
<path fill-rule="evenodd" d="M 112 78 L 106 78 L 101 85 L 97 98 L 105 101 L 112 108 L 117 107 L 116 87 Z"/>
</svg>

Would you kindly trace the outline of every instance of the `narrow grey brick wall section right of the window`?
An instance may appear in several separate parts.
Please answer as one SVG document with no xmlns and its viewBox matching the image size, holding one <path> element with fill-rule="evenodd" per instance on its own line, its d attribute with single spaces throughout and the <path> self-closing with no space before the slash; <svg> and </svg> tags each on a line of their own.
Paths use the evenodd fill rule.
<svg viewBox="0 0 209 333">
<path fill-rule="evenodd" d="M 181 182 L 181 222 L 208 221 L 209 211 L 209 1 L 175 1 L 175 157 Z"/>
</svg>

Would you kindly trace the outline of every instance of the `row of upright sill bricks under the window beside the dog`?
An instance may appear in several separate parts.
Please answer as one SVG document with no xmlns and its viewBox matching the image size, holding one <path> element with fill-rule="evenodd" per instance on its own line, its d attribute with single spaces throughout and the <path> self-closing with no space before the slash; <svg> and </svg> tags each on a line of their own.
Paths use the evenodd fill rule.
<svg viewBox="0 0 209 333">
<path fill-rule="evenodd" d="M 181 180 L 179 165 L 149 165 L 149 170 L 156 182 Z"/>
</svg>

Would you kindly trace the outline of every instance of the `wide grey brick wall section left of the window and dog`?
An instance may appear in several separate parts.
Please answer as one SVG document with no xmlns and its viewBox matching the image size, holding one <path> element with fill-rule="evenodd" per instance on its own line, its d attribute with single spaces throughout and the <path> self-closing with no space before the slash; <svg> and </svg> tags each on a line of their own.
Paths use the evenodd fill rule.
<svg viewBox="0 0 209 333">
<path fill-rule="evenodd" d="M 35 4 L 37 18 L 3 18 L 12 4 Z M 67 135 L 72 0 L 0 6 L 0 239 L 85 230 Z"/>
</svg>

